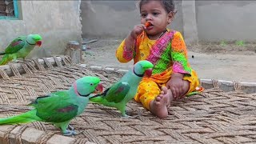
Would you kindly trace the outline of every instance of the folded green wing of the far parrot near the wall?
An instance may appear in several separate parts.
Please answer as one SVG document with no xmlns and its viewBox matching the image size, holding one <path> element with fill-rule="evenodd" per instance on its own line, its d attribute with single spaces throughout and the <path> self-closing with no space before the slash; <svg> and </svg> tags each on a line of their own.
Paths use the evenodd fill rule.
<svg viewBox="0 0 256 144">
<path fill-rule="evenodd" d="M 26 36 L 15 38 L 12 42 L 10 42 L 10 45 L 6 48 L 5 53 L 6 54 L 17 53 L 18 50 L 21 50 L 22 47 L 25 46 L 25 42 L 26 42 Z"/>
</svg>

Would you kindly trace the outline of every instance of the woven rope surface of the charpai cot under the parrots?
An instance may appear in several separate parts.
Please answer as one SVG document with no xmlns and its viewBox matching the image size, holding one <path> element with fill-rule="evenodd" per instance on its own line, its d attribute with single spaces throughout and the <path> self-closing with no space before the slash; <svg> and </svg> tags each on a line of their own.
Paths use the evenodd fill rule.
<svg viewBox="0 0 256 144">
<path fill-rule="evenodd" d="M 116 71 L 75 65 L 67 56 L 62 56 L 62 61 L 54 60 L 57 66 L 46 58 L 45 66 L 37 59 L 22 62 L 25 74 L 19 74 L 10 64 L 14 73 L 11 77 L 0 71 L 0 117 L 31 110 L 26 106 L 31 99 L 66 90 L 75 79 L 86 75 L 98 76 L 105 87 L 122 77 Z M 83 114 L 70 122 L 78 134 L 68 137 L 69 143 L 255 143 L 256 94 L 243 93 L 238 84 L 231 92 L 220 90 L 216 81 L 213 84 L 213 89 L 202 94 L 173 102 L 165 119 L 154 117 L 134 101 L 128 104 L 127 113 L 138 115 L 136 118 L 120 118 L 117 110 L 90 103 Z M 28 134 L 30 128 L 35 132 Z M 46 143 L 54 135 L 61 133 L 50 123 L 31 122 L 8 126 L 2 136 L 0 133 L 0 143 Z M 57 138 L 54 142 L 67 143 L 63 140 L 67 137 L 62 137 L 62 141 Z"/>
</svg>

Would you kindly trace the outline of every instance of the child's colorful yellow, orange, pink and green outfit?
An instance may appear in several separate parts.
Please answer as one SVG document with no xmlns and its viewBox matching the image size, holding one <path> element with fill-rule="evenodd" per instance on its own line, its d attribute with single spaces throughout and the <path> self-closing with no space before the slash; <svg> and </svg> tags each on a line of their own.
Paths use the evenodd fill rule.
<svg viewBox="0 0 256 144">
<path fill-rule="evenodd" d="M 142 32 L 134 42 L 132 50 L 126 49 L 125 40 L 116 51 L 119 62 L 134 63 L 141 60 L 148 60 L 154 64 L 153 75 L 150 78 L 143 78 L 138 86 L 138 94 L 134 99 L 149 109 L 149 103 L 160 94 L 160 87 L 165 86 L 171 74 L 184 74 L 184 80 L 190 82 L 190 90 L 194 91 L 198 86 L 198 77 L 191 69 L 187 61 L 186 44 L 182 34 L 175 30 L 167 30 L 158 40 L 150 40 L 145 32 Z"/>
</svg>

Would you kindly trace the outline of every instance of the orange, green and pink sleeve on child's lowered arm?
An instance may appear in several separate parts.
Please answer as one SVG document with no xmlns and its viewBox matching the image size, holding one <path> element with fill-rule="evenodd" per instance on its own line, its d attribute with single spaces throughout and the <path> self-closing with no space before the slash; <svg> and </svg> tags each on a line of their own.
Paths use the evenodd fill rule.
<svg viewBox="0 0 256 144">
<path fill-rule="evenodd" d="M 175 32 L 171 41 L 171 58 L 173 61 L 173 72 L 191 75 L 191 67 L 187 60 L 187 50 L 182 34 Z"/>
</svg>

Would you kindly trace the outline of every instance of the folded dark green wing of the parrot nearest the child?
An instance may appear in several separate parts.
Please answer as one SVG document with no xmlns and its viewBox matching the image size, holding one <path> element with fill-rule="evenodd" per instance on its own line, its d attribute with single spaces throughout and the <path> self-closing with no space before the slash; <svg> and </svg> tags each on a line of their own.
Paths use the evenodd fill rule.
<svg viewBox="0 0 256 144">
<path fill-rule="evenodd" d="M 126 94 L 130 90 L 130 86 L 127 82 L 116 82 L 113 86 L 106 91 L 106 100 L 108 102 L 121 102 Z"/>
</svg>

